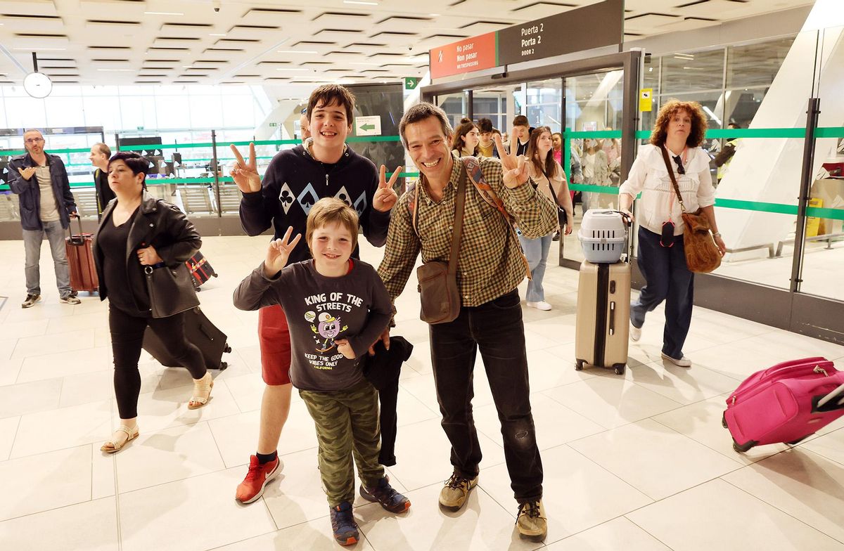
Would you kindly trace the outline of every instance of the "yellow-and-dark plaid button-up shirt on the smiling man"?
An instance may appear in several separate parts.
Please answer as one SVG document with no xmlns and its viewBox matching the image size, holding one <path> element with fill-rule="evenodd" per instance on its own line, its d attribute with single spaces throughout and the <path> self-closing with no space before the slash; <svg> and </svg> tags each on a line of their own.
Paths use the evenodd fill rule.
<svg viewBox="0 0 844 551">
<path fill-rule="evenodd" d="M 392 208 L 387 246 L 378 275 L 392 300 L 402 294 L 422 251 L 422 262 L 448 262 L 452 247 L 457 184 L 463 163 L 452 152 L 452 176 L 436 203 L 426 189 L 425 179 L 417 185 L 416 216 L 419 235 L 413 227 L 410 192 L 399 197 Z M 528 238 L 548 235 L 557 227 L 557 208 L 548 197 L 533 190 L 530 182 L 515 189 L 504 185 L 499 159 L 479 159 L 484 179 L 504 202 L 522 234 Z M 525 278 L 525 262 L 516 232 L 504 216 L 487 203 L 472 181 L 466 181 L 463 237 L 457 257 L 457 287 L 464 306 L 478 306 L 516 289 Z"/>
</svg>

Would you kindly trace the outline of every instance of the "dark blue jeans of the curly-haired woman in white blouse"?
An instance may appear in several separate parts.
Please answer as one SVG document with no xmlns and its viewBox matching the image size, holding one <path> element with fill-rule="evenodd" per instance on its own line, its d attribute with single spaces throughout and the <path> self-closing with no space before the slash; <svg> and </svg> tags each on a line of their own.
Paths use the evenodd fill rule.
<svg viewBox="0 0 844 551">
<path fill-rule="evenodd" d="M 661 246 L 659 237 L 639 226 L 639 270 L 646 285 L 641 288 L 639 300 L 630 305 L 630 321 L 641 327 L 645 314 L 665 300 L 663 354 L 680 359 L 691 326 L 695 274 L 685 263 L 683 235 L 674 235 L 671 247 Z"/>
</svg>

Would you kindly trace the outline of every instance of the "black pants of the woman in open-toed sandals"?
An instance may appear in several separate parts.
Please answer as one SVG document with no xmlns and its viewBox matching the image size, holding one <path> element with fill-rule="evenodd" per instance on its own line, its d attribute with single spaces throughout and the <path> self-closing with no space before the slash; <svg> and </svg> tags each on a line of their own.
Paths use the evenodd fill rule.
<svg viewBox="0 0 844 551">
<path fill-rule="evenodd" d="M 184 312 L 160 318 L 130 316 L 109 305 L 108 325 L 111 330 L 111 352 L 114 354 L 114 394 L 120 419 L 138 417 L 138 395 L 141 392 L 138 359 L 141 357 L 143 332 L 147 326 L 152 328 L 173 357 L 191 372 L 194 379 L 202 379 L 205 376 L 202 352 L 185 338 L 184 316 Z"/>
</svg>

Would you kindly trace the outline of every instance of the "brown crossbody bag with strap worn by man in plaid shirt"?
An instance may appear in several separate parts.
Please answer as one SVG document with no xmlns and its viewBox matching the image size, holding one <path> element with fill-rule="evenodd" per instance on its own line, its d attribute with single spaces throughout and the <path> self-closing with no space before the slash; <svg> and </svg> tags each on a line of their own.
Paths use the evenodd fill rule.
<svg viewBox="0 0 844 551">
<path fill-rule="evenodd" d="M 419 318 L 430 324 L 448 323 L 460 315 L 460 289 L 457 288 L 457 256 L 460 251 L 460 238 L 463 235 L 463 205 L 466 203 L 466 167 L 460 173 L 457 184 L 457 198 L 454 207 L 454 233 L 452 251 L 448 262 L 425 262 L 416 269 L 419 280 L 419 302 L 422 310 Z M 414 208 L 413 225 L 416 228 L 418 210 Z"/>
</svg>

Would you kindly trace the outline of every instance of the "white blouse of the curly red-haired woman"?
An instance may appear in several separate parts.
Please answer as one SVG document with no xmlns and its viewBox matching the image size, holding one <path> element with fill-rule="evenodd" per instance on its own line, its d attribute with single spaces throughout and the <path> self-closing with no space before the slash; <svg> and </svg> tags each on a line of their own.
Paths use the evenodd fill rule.
<svg viewBox="0 0 844 551">
<path fill-rule="evenodd" d="M 694 213 L 698 208 L 715 204 L 715 188 L 709 172 L 709 155 L 701 148 L 688 149 L 683 163 L 685 174 L 678 174 L 677 164 L 668 151 L 668 162 L 674 170 L 674 177 L 683 196 L 686 212 Z M 674 235 L 683 233 L 683 213 L 674 185 L 665 168 L 663 154 L 657 146 L 643 145 L 630 167 L 627 180 L 619 187 L 619 193 L 636 197 L 641 192 L 639 202 L 639 224 L 656 234 L 663 231 L 663 223 L 674 222 Z"/>
</svg>

